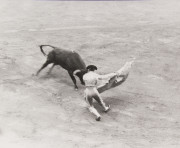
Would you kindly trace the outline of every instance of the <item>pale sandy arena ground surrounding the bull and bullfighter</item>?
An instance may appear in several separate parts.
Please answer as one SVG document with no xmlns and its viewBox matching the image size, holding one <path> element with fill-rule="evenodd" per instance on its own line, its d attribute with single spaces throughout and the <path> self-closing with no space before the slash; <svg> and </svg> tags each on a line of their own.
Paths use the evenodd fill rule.
<svg viewBox="0 0 180 148">
<path fill-rule="evenodd" d="M 180 1 L 0 1 L 1 148 L 179 148 Z M 46 68 L 38 45 L 78 51 L 99 73 L 137 57 L 128 80 L 102 94 L 96 122 L 84 87 Z"/>
</svg>

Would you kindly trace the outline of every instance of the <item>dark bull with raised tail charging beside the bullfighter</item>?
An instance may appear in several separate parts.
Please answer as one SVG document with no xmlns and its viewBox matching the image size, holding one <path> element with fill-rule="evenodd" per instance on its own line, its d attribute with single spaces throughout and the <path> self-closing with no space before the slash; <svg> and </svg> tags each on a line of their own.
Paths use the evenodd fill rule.
<svg viewBox="0 0 180 148">
<path fill-rule="evenodd" d="M 46 55 L 43 51 L 44 46 L 49 46 L 53 50 Z M 69 76 L 71 77 L 75 89 L 78 89 L 76 85 L 76 79 L 73 75 L 73 72 L 77 69 L 81 69 L 82 72 L 79 72 L 77 76 L 79 77 L 81 84 L 84 85 L 83 75 L 86 71 L 86 65 L 80 55 L 75 51 L 68 51 L 61 48 L 57 48 L 51 45 L 40 45 L 41 52 L 47 56 L 46 62 L 42 65 L 42 67 L 37 71 L 36 75 L 40 73 L 42 69 L 44 69 L 48 64 L 53 64 L 49 70 L 49 73 L 52 71 L 55 65 L 60 65 L 62 68 L 68 71 Z"/>
</svg>

